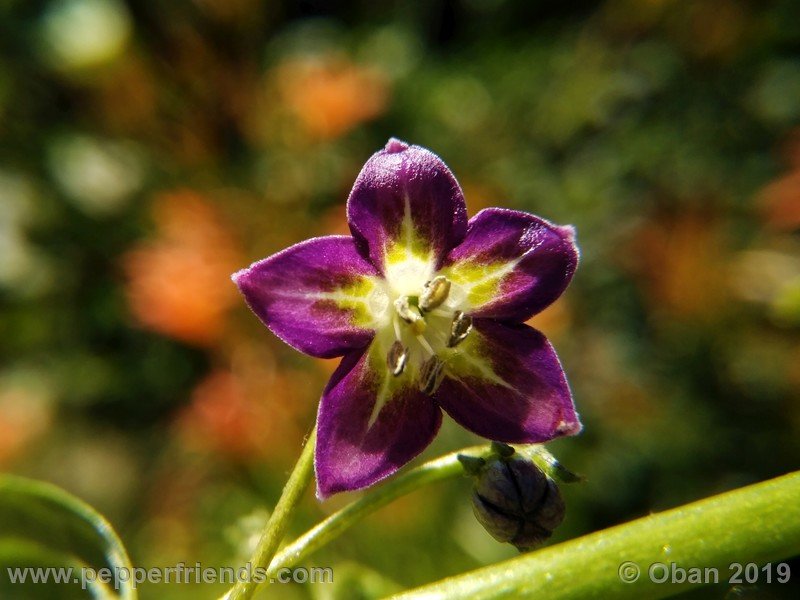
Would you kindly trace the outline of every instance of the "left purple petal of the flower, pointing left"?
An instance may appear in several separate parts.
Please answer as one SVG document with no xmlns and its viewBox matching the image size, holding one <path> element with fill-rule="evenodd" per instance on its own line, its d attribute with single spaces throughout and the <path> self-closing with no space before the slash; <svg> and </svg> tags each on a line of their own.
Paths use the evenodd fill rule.
<svg viewBox="0 0 800 600">
<path fill-rule="evenodd" d="M 374 309 L 389 301 L 350 236 L 306 240 L 242 269 L 233 280 L 275 335 L 322 358 L 367 346 Z"/>
</svg>

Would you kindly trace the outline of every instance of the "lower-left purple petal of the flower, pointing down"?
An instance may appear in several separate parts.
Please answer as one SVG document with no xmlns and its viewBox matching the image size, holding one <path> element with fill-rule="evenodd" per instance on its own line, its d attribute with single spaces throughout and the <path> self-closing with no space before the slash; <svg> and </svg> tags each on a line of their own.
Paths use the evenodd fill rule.
<svg viewBox="0 0 800 600">
<path fill-rule="evenodd" d="M 377 345 L 342 359 L 317 418 L 317 496 L 366 487 L 431 443 L 442 411 L 409 378 L 389 374 Z"/>
</svg>

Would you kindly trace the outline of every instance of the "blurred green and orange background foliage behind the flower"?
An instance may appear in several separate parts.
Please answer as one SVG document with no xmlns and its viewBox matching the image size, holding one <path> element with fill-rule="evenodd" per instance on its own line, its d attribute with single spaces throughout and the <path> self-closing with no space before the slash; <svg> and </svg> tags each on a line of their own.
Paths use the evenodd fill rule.
<svg viewBox="0 0 800 600">
<path fill-rule="evenodd" d="M 577 227 L 574 283 L 531 321 L 585 425 L 550 446 L 587 476 L 555 540 L 797 469 L 798 23 L 792 0 L 3 0 L 0 469 L 96 506 L 136 565 L 243 560 L 336 361 L 229 276 L 346 232 L 390 136 L 438 153 L 472 214 Z M 424 457 L 475 441 L 447 422 Z M 335 585 L 269 597 L 514 555 L 468 492 L 396 502 L 305 565 Z M 309 494 L 293 533 L 348 499 Z"/>
</svg>

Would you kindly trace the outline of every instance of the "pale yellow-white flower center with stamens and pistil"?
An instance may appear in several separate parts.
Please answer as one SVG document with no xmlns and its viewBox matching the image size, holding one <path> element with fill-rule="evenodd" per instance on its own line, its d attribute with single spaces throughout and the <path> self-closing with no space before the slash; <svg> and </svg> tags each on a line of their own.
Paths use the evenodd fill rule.
<svg viewBox="0 0 800 600">
<path fill-rule="evenodd" d="M 447 349 L 458 346 L 472 331 L 472 318 L 461 310 L 463 290 L 443 275 L 417 290 L 388 283 L 394 298 L 387 311 L 391 325 L 383 334 L 391 335 L 393 342 L 386 365 L 394 377 L 413 371 L 410 376 L 416 375 L 420 390 L 432 394 L 444 377 Z"/>
</svg>

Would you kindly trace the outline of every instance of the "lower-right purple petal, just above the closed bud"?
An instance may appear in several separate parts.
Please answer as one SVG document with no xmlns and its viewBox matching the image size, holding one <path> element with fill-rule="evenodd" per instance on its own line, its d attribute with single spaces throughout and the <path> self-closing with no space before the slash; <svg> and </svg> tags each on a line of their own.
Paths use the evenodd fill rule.
<svg viewBox="0 0 800 600">
<path fill-rule="evenodd" d="M 434 397 L 480 436 L 536 443 L 581 430 L 553 347 L 527 325 L 475 319 L 446 364 Z"/>
</svg>

